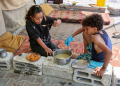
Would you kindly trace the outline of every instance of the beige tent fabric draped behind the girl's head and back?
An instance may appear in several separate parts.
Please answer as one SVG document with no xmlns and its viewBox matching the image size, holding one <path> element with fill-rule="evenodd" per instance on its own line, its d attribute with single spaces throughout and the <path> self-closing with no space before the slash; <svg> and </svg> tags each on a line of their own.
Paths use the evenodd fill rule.
<svg viewBox="0 0 120 86">
<path fill-rule="evenodd" d="M 35 5 L 34 0 L 15 10 L 2 10 L 6 31 L 13 34 L 18 28 L 25 26 L 25 15 L 32 5 Z"/>
</svg>

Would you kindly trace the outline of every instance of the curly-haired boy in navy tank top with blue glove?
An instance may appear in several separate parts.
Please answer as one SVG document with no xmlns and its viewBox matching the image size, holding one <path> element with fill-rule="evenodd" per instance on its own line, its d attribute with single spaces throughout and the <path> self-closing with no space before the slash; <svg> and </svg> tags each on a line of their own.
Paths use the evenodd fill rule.
<svg viewBox="0 0 120 86">
<path fill-rule="evenodd" d="M 102 30 L 103 19 L 100 15 L 93 14 L 82 21 L 82 26 L 65 40 L 65 44 L 69 46 L 73 37 L 83 32 L 84 54 L 79 55 L 76 59 L 87 57 L 89 60 L 104 62 L 102 67 L 95 68 L 95 75 L 102 76 L 112 56 L 111 40 L 107 33 Z"/>
</svg>

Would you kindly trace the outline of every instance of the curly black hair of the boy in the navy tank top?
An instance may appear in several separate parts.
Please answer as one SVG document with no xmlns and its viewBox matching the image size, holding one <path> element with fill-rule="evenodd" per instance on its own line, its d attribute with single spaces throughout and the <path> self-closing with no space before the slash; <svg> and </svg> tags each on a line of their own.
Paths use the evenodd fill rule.
<svg viewBox="0 0 120 86">
<path fill-rule="evenodd" d="M 83 21 L 82 21 L 82 26 L 86 27 L 96 27 L 97 30 L 103 29 L 103 18 L 99 14 L 92 14 L 90 16 L 87 16 Z"/>
</svg>

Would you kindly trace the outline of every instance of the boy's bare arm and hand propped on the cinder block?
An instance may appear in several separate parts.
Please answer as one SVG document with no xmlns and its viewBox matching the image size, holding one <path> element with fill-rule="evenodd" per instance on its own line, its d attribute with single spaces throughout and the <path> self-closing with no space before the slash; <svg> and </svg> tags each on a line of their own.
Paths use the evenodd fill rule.
<svg viewBox="0 0 120 86">
<path fill-rule="evenodd" d="M 103 67 L 95 69 L 95 71 L 96 71 L 95 75 L 102 76 L 104 74 L 104 72 L 106 71 L 106 68 L 110 62 L 110 59 L 112 56 L 112 51 L 109 49 L 109 47 L 107 47 L 105 45 L 105 43 L 103 42 L 103 39 L 99 35 L 94 35 L 91 38 L 91 41 L 94 44 L 96 44 L 105 54 Z"/>
</svg>

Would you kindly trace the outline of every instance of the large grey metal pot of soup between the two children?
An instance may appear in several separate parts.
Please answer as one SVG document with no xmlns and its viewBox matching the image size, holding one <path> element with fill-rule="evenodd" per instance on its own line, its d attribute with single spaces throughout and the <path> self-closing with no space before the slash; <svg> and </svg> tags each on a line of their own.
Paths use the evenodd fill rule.
<svg viewBox="0 0 120 86">
<path fill-rule="evenodd" d="M 60 59 L 60 58 L 55 57 L 58 54 L 68 54 L 68 55 L 70 55 L 70 57 L 64 58 L 64 59 Z M 58 65 L 66 65 L 71 60 L 72 52 L 67 50 L 67 49 L 56 49 L 56 50 L 53 51 L 53 56 L 54 56 L 55 62 Z"/>
</svg>

